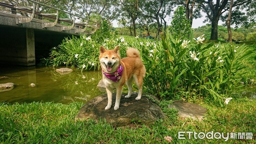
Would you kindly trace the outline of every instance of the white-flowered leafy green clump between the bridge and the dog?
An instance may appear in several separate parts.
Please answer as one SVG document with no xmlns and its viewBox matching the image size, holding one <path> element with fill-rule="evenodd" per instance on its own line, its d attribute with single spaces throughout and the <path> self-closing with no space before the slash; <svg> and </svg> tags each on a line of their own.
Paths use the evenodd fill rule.
<svg viewBox="0 0 256 144">
<path fill-rule="evenodd" d="M 85 35 L 65 38 L 58 47 L 51 49 L 50 58 L 43 59 L 42 64 L 52 66 L 71 66 L 87 70 L 99 68 L 98 43 Z M 94 55 L 92 55 L 94 54 Z"/>
</svg>

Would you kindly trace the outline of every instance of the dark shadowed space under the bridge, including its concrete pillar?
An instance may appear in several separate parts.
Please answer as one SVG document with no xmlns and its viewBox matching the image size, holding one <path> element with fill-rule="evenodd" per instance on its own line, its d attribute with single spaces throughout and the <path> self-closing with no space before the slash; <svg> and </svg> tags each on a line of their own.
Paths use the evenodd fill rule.
<svg viewBox="0 0 256 144">
<path fill-rule="evenodd" d="M 72 35 L 0 25 L 0 63 L 33 66 L 69 36 Z"/>
</svg>

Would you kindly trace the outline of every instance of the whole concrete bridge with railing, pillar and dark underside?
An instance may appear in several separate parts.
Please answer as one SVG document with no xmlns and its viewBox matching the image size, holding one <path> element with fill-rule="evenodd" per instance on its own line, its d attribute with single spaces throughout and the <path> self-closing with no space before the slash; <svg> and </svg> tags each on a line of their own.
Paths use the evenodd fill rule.
<svg viewBox="0 0 256 144">
<path fill-rule="evenodd" d="M 60 9 L 33 0 L 22 4 L 0 2 L 0 63 L 33 66 L 64 37 L 91 34 L 97 29 L 96 22 Z M 55 13 L 36 12 L 35 5 Z M 60 18 L 59 12 L 70 18 Z"/>
</svg>

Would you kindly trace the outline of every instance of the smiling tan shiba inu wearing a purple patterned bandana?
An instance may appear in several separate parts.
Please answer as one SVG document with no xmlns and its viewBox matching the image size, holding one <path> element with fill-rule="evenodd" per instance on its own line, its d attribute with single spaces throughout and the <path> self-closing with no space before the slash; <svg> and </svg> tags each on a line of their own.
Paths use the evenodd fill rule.
<svg viewBox="0 0 256 144">
<path fill-rule="evenodd" d="M 102 80 L 106 86 L 108 95 L 108 105 L 105 109 L 110 109 L 112 104 L 112 92 L 116 88 L 116 103 L 114 109 L 119 109 L 120 99 L 122 95 L 122 86 L 126 83 L 128 86 L 128 95 L 130 98 L 132 93 L 132 82 L 135 81 L 139 89 L 139 94 L 135 98 L 140 100 L 142 95 L 143 78 L 145 77 L 145 66 L 140 59 L 140 52 L 137 49 L 129 48 L 126 51 L 127 57 L 121 59 L 119 55 L 119 46 L 113 50 L 106 50 L 100 47 L 99 62 L 102 67 Z"/>
</svg>

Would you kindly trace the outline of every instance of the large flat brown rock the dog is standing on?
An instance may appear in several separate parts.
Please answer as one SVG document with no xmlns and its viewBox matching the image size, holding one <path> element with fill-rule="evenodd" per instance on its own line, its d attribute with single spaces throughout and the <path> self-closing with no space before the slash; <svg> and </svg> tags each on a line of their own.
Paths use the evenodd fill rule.
<svg viewBox="0 0 256 144">
<path fill-rule="evenodd" d="M 159 101 L 153 95 L 143 94 L 142 98 L 137 101 L 137 94 L 132 94 L 131 98 L 125 98 L 122 95 L 119 109 L 114 110 L 116 94 L 113 93 L 112 107 L 105 110 L 108 104 L 107 94 L 100 95 L 88 101 L 79 110 L 76 120 L 92 118 L 96 121 L 106 119 L 113 126 L 125 126 L 135 122 L 151 124 L 159 119 L 165 119 L 166 116 L 157 105 Z"/>
</svg>

